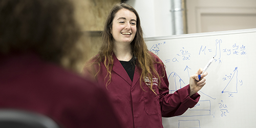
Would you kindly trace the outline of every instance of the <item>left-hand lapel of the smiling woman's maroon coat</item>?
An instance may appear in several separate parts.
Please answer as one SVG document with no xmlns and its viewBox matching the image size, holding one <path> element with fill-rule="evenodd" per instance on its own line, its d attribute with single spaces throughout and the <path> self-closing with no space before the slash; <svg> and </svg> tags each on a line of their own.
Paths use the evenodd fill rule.
<svg viewBox="0 0 256 128">
<path fill-rule="evenodd" d="M 114 59 L 114 65 L 113 65 L 113 71 L 118 74 L 120 77 L 122 77 L 127 83 L 132 86 L 132 80 L 123 68 L 120 61 L 117 59 L 116 55 L 113 53 L 113 59 Z M 113 77 L 113 76 L 112 76 Z"/>
</svg>

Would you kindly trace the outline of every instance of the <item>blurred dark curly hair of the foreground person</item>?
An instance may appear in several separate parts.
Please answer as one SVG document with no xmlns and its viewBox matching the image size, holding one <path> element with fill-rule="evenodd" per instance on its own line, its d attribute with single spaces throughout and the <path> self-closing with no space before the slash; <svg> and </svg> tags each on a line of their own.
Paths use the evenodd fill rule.
<svg viewBox="0 0 256 128">
<path fill-rule="evenodd" d="M 77 48 L 81 31 L 69 0 L 0 1 L 0 54 L 34 52 L 72 68 L 82 57 Z"/>
</svg>

